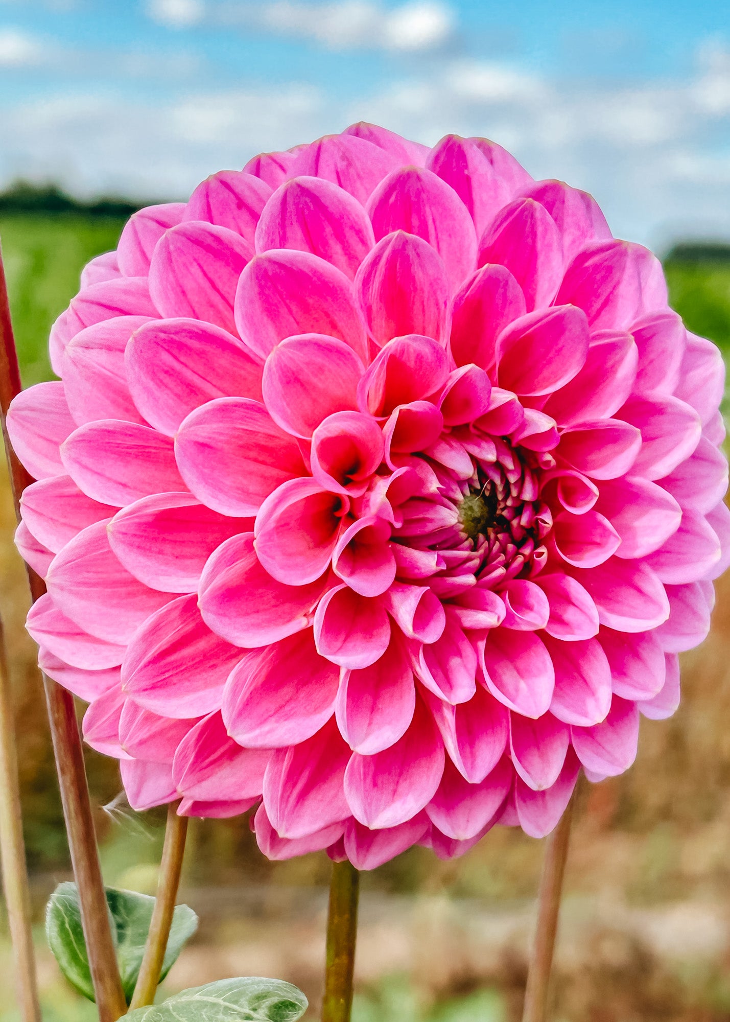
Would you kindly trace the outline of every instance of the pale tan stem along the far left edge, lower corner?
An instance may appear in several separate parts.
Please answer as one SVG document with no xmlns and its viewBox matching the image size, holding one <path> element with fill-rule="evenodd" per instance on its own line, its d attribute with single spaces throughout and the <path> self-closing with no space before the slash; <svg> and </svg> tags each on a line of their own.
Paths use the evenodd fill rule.
<svg viewBox="0 0 730 1022">
<path fill-rule="evenodd" d="M 31 928 L 26 846 L 22 840 L 17 750 L 12 719 L 10 678 L 0 620 L 0 860 L 12 942 L 15 987 L 22 1022 L 41 1022 L 38 979 Z"/>
</svg>

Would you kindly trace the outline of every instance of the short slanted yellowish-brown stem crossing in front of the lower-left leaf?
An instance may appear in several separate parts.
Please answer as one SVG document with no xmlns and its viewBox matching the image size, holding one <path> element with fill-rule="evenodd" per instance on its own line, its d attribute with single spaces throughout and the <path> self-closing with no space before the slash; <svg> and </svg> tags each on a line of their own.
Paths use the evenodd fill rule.
<svg viewBox="0 0 730 1022">
<path fill-rule="evenodd" d="M 168 823 L 165 828 L 165 845 L 159 864 L 159 880 L 157 881 L 157 898 L 149 924 L 147 942 L 144 945 L 142 966 L 134 988 L 134 996 L 130 1010 L 144 1008 L 154 1003 L 154 993 L 159 983 L 163 971 L 165 951 L 168 947 L 170 927 L 173 923 L 175 901 L 180 885 L 183 855 L 185 854 L 185 838 L 187 836 L 187 817 L 179 817 L 177 808 L 180 802 L 168 805 Z"/>
</svg>

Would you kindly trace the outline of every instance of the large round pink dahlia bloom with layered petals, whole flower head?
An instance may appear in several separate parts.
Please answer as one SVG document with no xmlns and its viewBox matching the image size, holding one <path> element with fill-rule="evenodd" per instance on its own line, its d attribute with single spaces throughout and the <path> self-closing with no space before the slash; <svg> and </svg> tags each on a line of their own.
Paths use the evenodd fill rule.
<svg viewBox="0 0 730 1022">
<path fill-rule="evenodd" d="M 28 628 L 132 805 L 446 857 L 676 709 L 723 362 L 586 193 L 355 125 L 135 214 L 50 352 L 8 416 Z"/>
</svg>

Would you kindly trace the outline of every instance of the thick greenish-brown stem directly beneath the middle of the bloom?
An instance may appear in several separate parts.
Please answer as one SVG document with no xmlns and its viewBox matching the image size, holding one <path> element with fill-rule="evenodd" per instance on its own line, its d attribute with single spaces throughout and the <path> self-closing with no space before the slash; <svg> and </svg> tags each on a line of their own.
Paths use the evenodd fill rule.
<svg viewBox="0 0 730 1022">
<path fill-rule="evenodd" d="M 360 874 L 347 860 L 332 864 L 327 915 L 327 966 L 322 1022 L 350 1022 Z"/>
</svg>

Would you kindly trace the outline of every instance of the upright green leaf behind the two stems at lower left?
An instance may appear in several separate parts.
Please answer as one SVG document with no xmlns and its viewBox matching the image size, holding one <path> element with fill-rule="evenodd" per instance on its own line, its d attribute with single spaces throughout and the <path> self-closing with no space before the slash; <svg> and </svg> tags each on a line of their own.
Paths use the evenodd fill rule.
<svg viewBox="0 0 730 1022">
<path fill-rule="evenodd" d="M 105 890 L 122 986 L 129 1003 L 142 964 L 154 898 L 148 894 L 138 894 L 136 891 L 120 890 L 118 887 L 106 887 Z M 186 904 L 177 905 L 161 979 L 165 979 L 183 945 L 196 929 L 197 916 L 192 909 Z M 93 1001 L 94 988 L 81 926 L 79 892 L 76 884 L 59 884 L 51 894 L 46 909 L 46 935 L 65 978 L 80 993 Z"/>
</svg>

